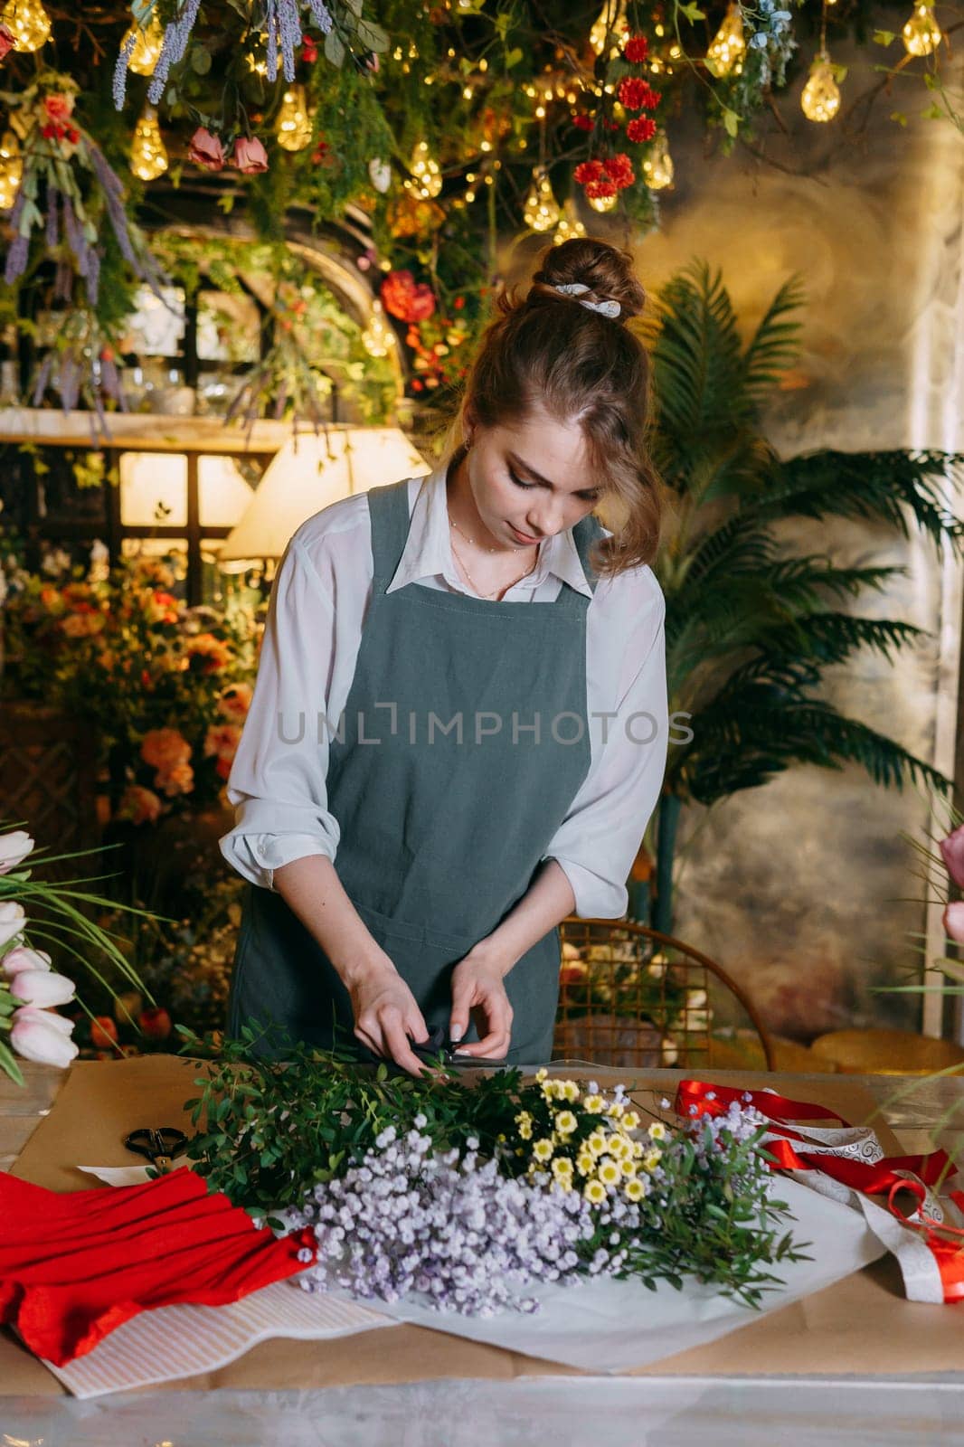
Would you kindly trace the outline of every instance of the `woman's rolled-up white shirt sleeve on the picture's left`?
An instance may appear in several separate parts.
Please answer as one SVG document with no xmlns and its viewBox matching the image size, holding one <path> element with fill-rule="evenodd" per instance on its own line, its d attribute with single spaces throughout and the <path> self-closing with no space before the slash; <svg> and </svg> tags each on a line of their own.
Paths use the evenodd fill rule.
<svg viewBox="0 0 964 1447">
<path fill-rule="evenodd" d="M 333 651 L 331 598 L 295 534 L 275 576 L 255 693 L 227 780 L 234 828 L 219 841 L 227 862 L 263 888 L 274 888 L 282 864 L 337 852 L 326 787 Z"/>
</svg>

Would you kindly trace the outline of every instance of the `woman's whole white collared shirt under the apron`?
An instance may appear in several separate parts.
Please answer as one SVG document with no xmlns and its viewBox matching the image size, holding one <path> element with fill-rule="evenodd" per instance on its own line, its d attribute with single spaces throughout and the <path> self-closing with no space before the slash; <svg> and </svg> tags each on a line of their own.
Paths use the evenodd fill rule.
<svg viewBox="0 0 964 1447">
<path fill-rule="evenodd" d="M 388 592 L 420 583 L 478 596 L 452 556 L 446 467 L 408 480 L 408 541 Z M 274 871 L 304 855 L 337 860 L 340 828 L 326 790 L 329 741 L 347 703 L 372 577 L 366 493 L 308 518 L 275 576 L 255 696 L 227 780 L 236 823 L 220 841 L 224 858 L 253 884 L 272 888 Z M 666 765 L 666 605 L 648 567 L 601 577 L 593 593 L 572 530 L 541 543 L 534 572 L 504 598 L 551 603 L 563 582 L 591 599 L 591 765 L 543 858 L 565 870 L 578 915 L 618 919 Z M 330 728 L 316 726 L 318 715 Z"/>
</svg>

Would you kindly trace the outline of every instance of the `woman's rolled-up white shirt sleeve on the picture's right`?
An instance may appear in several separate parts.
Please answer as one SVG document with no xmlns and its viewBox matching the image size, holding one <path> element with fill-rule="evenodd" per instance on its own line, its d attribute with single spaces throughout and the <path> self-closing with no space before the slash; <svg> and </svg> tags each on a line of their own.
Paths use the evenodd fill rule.
<svg viewBox="0 0 964 1447">
<path fill-rule="evenodd" d="M 583 919 L 625 915 L 625 881 L 663 786 L 669 742 L 664 621 L 666 602 L 651 579 L 647 606 L 627 641 L 614 716 L 591 719 L 599 751 L 593 742 L 589 774 L 543 857 L 563 868 L 576 897 L 575 913 Z"/>
</svg>

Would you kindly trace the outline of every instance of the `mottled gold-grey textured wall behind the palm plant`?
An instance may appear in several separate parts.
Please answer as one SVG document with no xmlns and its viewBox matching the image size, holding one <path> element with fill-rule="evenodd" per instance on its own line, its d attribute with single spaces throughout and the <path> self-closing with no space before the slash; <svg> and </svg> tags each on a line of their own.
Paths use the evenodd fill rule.
<svg viewBox="0 0 964 1447">
<path fill-rule="evenodd" d="M 840 46 L 832 54 L 851 65 L 850 100 L 873 80 L 868 61 Z M 964 140 L 948 123 L 887 120 L 897 106 L 910 116 L 925 109 L 919 84 L 899 82 L 844 145 L 835 127 L 805 120 L 799 90 L 782 100 L 792 136 L 774 127 L 766 149 L 809 175 L 740 150 L 706 159 L 702 136 L 670 124 L 677 187 L 660 230 L 631 243 L 643 276 L 653 288 L 693 255 L 708 258 L 751 327 L 783 278 L 802 272 L 803 385 L 780 395 L 769 423 L 782 453 L 961 447 Z M 829 695 L 950 770 L 958 569 L 929 544 L 850 524 L 795 527 L 792 540 L 851 563 L 906 567 L 858 611 L 912 621 L 931 638 L 896 667 L 855 658 L 837 670 Z M 909 932 L 925 925 L 913 903 L 923 886 L 900 831 L 922 838 L 926 822 L 928 800 L 913 786 L 877 789 L 855 768 L 798 768 L 714 810 L 693 809 L 680 831 L 677 933 L 716 956 L 774 1030 L 805 1039 L 851 1024 L 913 1027 L 919 1000 L 871 987 L 919 968 Z"/>
</svg>

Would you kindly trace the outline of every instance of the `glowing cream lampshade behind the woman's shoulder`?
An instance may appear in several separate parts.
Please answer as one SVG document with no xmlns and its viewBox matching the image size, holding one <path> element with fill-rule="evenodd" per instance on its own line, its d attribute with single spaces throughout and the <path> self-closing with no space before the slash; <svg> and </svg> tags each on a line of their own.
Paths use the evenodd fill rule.
<svg viewBox="0 0 964 1447">
<path fill-rule="evenodd" d="M 281 557 L 313 514 L 340 498 L 431 469 L 398 427 L 329 427 L 300 433 L 272 457 L 255 496 L 224 540 L 219 564 Z"/>
</svg>

